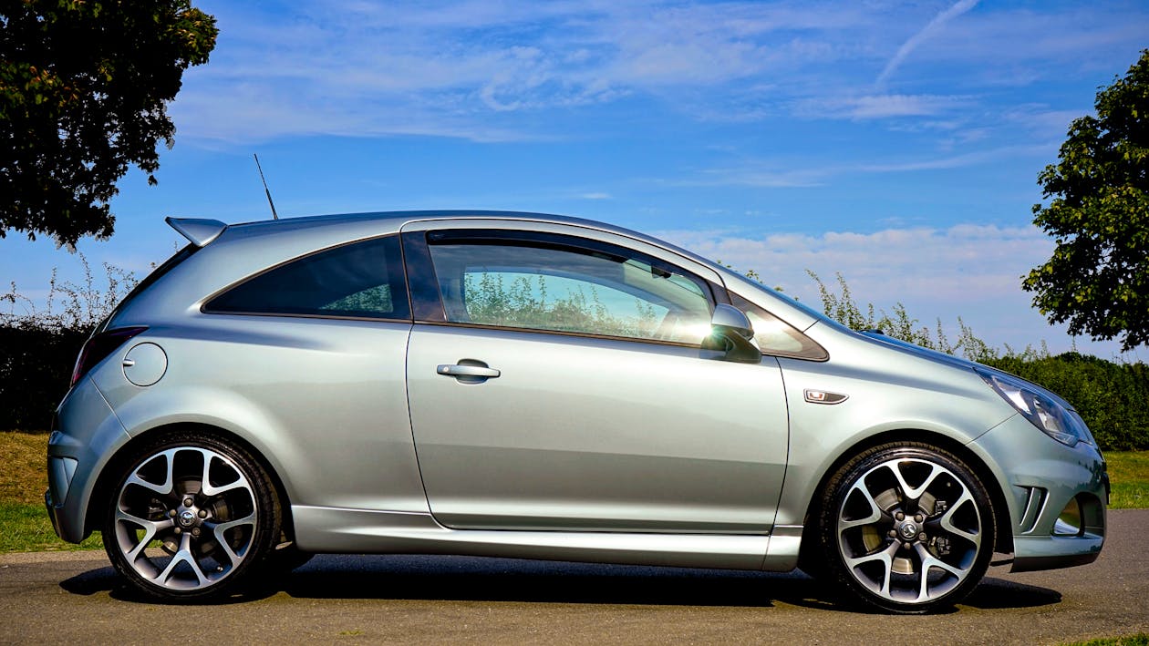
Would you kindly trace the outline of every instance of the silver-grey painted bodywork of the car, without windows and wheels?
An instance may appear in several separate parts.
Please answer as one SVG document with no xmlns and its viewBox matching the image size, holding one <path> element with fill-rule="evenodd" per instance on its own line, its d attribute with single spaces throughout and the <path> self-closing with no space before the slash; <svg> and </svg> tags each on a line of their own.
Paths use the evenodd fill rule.
<svg viewBox="0 0 1149 646">
<path fill-rule="evenodd" d="M 574 425 L 560 425 L 561 434 L 539 439 L 538 450 L 557 459 L 562 468 L 531 475 L 534 480 L 527 484 L 543 482 L 546 488 L 523 496 L 517 489 L 522 473 L 494 468 L 514 461 L 514 452 L 495 447 L 517 442 L 523 429 L 508 428 L 509 418 L 500 413 L 483 421 L 481 436 L 461 435 L 473 427 L 453 415 L 452 399 L 440 399 L 446 388 L 457 384 L 424 372 L 432 363 L 454 361 L 461 358 L 455 355 L 466 353 L 445 340 L 455 337 L 454 343 L 460 336 L 483 335 L 406 322 L 200 311 L 211 295 L 265 267 L 327 247 L 396 233 L 404 226 L 506 226 L 630 246 L 738 291 L 804 330 L 831 359 L 709 363 L 703 372 L 711 373 L 711 379 L 705 381 L 716 383 L 699 386 L 697 407 L 687 412 L 684 406 L 668 405 L 658 411 L 657 394 L 669 383 L 679 389 L 676 403 L 692 391 L 691 382 L 679 380 L 696 379 L 688 366 L 702 365 L 701 359 L 639 342 L 571 342 L 560 351 L 565 366 L 574 366 L 573 374 L 548 375 L 547 383 L 555 388 L 577 391 L 587 388 L 585 380 L 601 379 L 602 366 L 584 360 L 579 350 L 594 355 L 616 344 L 625 345 L 635 361 L 653 361 L 665 371 L 666 381 L 615 381 L 616 390 L 630 384 L 633 391 L 600 397 L 594 411 L 570 402 L 571 408 L 558 417 L 566 421 L 593 414 L 599 422 L 617 419 L 626 422 L 620 427 L 641 427 L 643 421 L 635 420 L 629 408 L 630 403 L 640 402 L 648 414 L 671 427 L 674 442 L 655 449 L 649 437 L 615 437 L 607 446 L 622 458 L 616 458 L 619 461 L 603 482 L 586 483 L 576 466 L 593 456 L 592 446 L 578 441 Z M 132 437 L 168 425 L 196 423 L 241 438 L 267 459 L 291 500 L 298 543 L 310 551 L 457 551 L 789 569 L 796 563 L 802 527 L 820 495 L 820 483 L 834 465 L 876 436 L 944 439 L 964 447 L 1007 505 L 998 513 L 1008 514 L 1005 524 L 1011 528 L 1018 563 L 1069 563 L 1082 554 L 1095 557 L 1103 542 L 1103 522 L 1101 535 L 1050 536 L 1059 509 L 1073 496 L 1086 492 L 1104 500 L 1097 450 L 1087 444 L 1067 447 L 1046 437 L 967 363 L 846 330 L 691 252 L 626 229 L 573 218 L 491 212 L 367 213 L 232 225 L 172 270 L 162 285 L 114 313 L 107 326 L 147 325 L 148 330 L 97 366 L 57 411 L 57 433 L 48 452 L 59 461 L 49 462 L 67 466 L 49 468 L 48 503 L 57 531 L 68 540 L 82 539 L 99 522 L 106 501 L 93 499 L 97 481 Z M 508 366 L 509 375 L 524 366 L 527 372 L 539 371 L 529 366 L 526 347 L 561 343 L 546 334 L 530 335 L 538 341 L 518 333 L 494 336 L 487 340 L 491 352 L 499 355 L 492 365 L 501 360 L 500 367 Z M 163 379 L 146 388 L 128 381 L 122 366 L 126 352 L 142 342 L 160 345 L 168 357 Z M 445 345 L 437 349 L 439 342 Z M 499 383 L 515 387 L 514 379 Z M 841 392 L 848 399 L 811 404 L 803 399 L 805 389 Z M 756 390 L 768 396 L 759 398 Z M 499 392 L 495 388 L 483 391 Z M 564 403 L 557 395 L 550 397 L 554 405 Z M 506 403 L 494 407 L 506 412 Z M 540 415 L 542 410 L 540 402 L 530 414 Z M 784 410 L 788 437 L 780 421 Z M 670 420 L 673 417 L 683 419 Z M 549 427 L 539 421 L 537 428 Z M 765 434 L 764 444 L 750 442 L 755 428 Z M 518 436 L 508 435 L 516 430 Z M 416 447 L 434 461 L 423 465 L 430 467 L 430 480 L 421 475 L 423 457 L 417 457 Z M 75 466 L 64 458 L 75 460 Z M 493 460 L 489 485 L 480 492 L 511 496 L 508 507 L 479 496 L 468 499 L 466 485 L 473 482 L 449 475 L 452 468 L 476 459 Z M 681 469 L 712 477 L 722 465 L 734 467 L 730 484 L 735 489 L 702 482 L 683 497 L 658 490 L 664 482 L 660 478 L 668 473 Z M 508 480 L 500 482 L 500 473 Z M 609 487 L 625 478 L 645 483 L 635 499 Z M 1032 527 L 1023 527 L 1026 491 L 1032 487 L 1050 493 L 1038 517 L 1031 519 Z M 442 503 L 438 515 L 437 500 Z M 676 506 L 674 500 L 680 504 Z M 452 524 L 480 529 L 450 529 Z"/>
</svg>

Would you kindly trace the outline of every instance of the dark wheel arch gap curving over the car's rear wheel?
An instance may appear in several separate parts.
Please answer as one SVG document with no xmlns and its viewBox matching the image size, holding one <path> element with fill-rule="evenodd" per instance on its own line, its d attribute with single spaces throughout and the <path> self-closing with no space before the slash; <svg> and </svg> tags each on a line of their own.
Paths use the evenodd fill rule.
<svg viewBox="0 0 1149 646">
<path fill-rule="evenodd" d="M 205 433 L 216 438 L 231 442 L 246 451 L 252 459 L 257 461 L 260 466 L 263 467 L 263 470 L 267 472 L 268 476 L 271 477 L 271 483 L 275 485 L 276 498 L 279 500 L 279 513 L 283 519 L 282 528 L 287 534 L 288 539 L 294 539 L 295 524 L 291 513 L 291 498 L 287 495 L 287 487 L 279 476 L 278 469 L 276 469 L 271 461 L 268 460 L 263 451 L 256 447 L 244 436 L 225 428 L 202 422 L 173 422 L 156 426 L 144 433 L 134 435 L 131 439 L 125 442 L 123 446 L 116 450 L 115 454 L 108 459 L 107 464 L 105 464 L 103 468 L 100 470 L 95 485 L 92 488 L 92 495 L 88 497 L 87 507 L 84 509 L 85 535 L 100 529 L 101 519 L 103 517 L 102 506 L 109 500 L 113 489 L 115 488 L 115 481 L 122 474 L 122 469 L 136 457 L 137 447 L 141 444 L 154 441 L 161 435 L 179 431 Z"/>
</svg>

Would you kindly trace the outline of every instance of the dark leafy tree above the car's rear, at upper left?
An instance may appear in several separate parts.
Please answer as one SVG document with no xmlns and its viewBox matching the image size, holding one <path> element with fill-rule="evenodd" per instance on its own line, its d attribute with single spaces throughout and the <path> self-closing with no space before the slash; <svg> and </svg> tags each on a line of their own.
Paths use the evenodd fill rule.
<svg viewBox="0 0 1149 646">
<path fill-rule="evenodd" d="M 217 33 L 191 0 L 0 0 L 0 238 L 111 235 L 116 181 L 156 184 L 167 104 Z"/>
</svg>

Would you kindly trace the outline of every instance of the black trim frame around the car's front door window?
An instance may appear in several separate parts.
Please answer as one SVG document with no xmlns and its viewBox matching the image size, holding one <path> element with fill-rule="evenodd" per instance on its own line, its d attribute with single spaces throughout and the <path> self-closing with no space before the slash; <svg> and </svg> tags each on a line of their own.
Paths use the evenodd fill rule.
<svg viewBox="0 0 1149 646">
<path fill-rule="evenodd" d="M 684 267 L 668 263 L 662 258 L 656 258 L 637 249 L 630 249 L 620 244 L 612 244 L 610 242 L 579 238 L 564 233 L 503 228 L 435 228 L 403 232 L 402 240 L 404 255 L 409 263 L 407 267 L 407 275 L 409 280 L 408 293 L 411 297 L 411 312 L 416 324 L 464 327 L 469 329 L 523 332 L 530 334 L 555 334 L 560 336 L 574 336 L 581 338 L 627 341 L 631 343 L 653 343 L 656 345 L 670 345 L 674 348 L 699 349 L 702 347 L 701 343 L 665 341 L 661 338 L 647 338 L 640 336 L 616 336 L 588 332 L 499 326 L 447 320 L 446 308 L 442 303 L 442 294 L 439 289 L 439 277 L 435 273 L 434 262 L 431 257 L 431 246 L 434 243 L 476 246 L 507 246 L 510 243 L 510 246 L 515 247 L 530 247 L 534 249 L 549 249 L 584 255 L 600 254 L 610 256 L 615 259 L 620 258 L 622 262 L 633 258 L 643 262 L 651 267 L 688 278 L 702 289 L 702 297 L 710 304 L 711 312 L 714 312 L 716 304 L 728 303 L 728 296 L 726 295 L 726 289 L 724 287 L 716 286 L 712 281 L 709 281 Z M 418 289 L 416 289 L 416 280 L 418 281 Z M 416 312 L 419 314 L 415 314 Z"/>
</svg>

